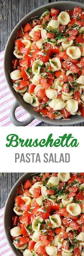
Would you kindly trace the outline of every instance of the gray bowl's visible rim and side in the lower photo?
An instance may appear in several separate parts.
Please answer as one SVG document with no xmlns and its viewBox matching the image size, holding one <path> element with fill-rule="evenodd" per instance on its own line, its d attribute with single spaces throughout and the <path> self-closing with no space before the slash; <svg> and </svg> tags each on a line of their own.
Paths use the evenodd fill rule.
<svg viewBox="0 0 84 256">
<path fill-rule="evenodd" d="M 36 173 L 38 174 L 38 173 Z M 15 185 L 12 187 L 9 196 L 7 197 L 6 204 L 5 204 L 5 211 L 4 211 L 4 231 L 6 235 L 7 242 L 10 246 L 10 249 L 16 256 L 23 256 L 23 254 L 20 252 L 20 250 L 16 250 L 15 246 L 12 244 L 12 239 L 10 236 L 10 229 L 12 229 L 12 222 L 11 218 L 14 215 L 14 197 L 16 196 L 17 188 L 19 185 L 24 184 L 24 182 L 27 179 L 31 179 L 31 177 L 35 175 L 35 173 L 25 173 L 23 174 L 20 179 L 15 183 Z"/>
</svg>

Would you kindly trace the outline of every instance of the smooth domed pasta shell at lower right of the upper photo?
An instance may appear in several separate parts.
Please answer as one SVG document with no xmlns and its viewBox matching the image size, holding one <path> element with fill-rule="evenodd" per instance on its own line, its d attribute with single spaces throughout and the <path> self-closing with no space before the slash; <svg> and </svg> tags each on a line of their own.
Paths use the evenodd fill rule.
<svg viewBox="0 0 84 256">
<path fill-rule="evenodd" d="M 67 100 L 66 105 L 65 105 L 65 109 L 67 109 L 67 111 L 69 112 L 77 112 L 78 110 L 78 101 L 77 100 Z"/>
</svg>

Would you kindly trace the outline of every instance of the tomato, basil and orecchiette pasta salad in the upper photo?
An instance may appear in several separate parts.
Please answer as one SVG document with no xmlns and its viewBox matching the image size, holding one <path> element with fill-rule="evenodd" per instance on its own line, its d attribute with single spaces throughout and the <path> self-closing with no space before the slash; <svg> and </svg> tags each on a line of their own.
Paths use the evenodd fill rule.
<svg viewBox="0 0 84 256">
<path fill-rule="evenodd" d="M 32 19 L 14 42 L 15 91 L 42 116 L 84 117 L 84 10 L 45 9 Z"/>
</svg>

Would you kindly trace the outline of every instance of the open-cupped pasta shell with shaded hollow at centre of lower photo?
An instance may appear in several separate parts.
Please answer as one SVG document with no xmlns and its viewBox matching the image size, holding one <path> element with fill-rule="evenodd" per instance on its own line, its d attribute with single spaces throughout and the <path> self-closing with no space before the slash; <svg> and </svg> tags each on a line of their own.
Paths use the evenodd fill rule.
<svg viewBox="0 0 84 256">
<path fill-rule="evenodd" d="M 61 226 L 61 218 L 58 214 L 53 214 L 52 216 L 49 216 L 50 222 L 54 227 L 60 227 Z M 52 220 L 54 219 L 54 220 Z"/>
</svg>

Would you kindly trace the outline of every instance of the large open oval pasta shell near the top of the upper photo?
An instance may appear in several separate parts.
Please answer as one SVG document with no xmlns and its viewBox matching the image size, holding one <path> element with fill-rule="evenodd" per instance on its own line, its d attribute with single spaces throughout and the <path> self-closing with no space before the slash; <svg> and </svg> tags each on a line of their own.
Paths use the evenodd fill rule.
<svg viewBox="0 0 84 256">
<path fill-rule="evenodd" d="M 70 22 L 70 16 L 68 12 L 61 11 L 58 15 L 58 20 L 61 25 L 67 25 Z"/>
</svg>

